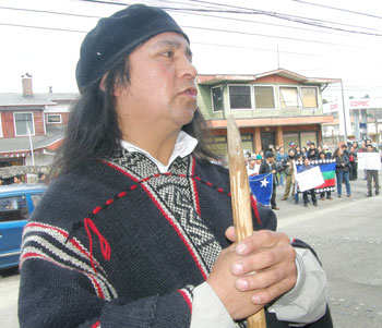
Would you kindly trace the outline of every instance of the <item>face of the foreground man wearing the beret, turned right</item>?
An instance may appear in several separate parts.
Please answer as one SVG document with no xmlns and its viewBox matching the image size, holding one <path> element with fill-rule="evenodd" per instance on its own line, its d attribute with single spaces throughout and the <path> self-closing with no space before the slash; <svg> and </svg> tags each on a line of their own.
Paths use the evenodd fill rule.
<svg viewBox="0 0 382 328">
<path fill-rule="evenodd" d="M 130 83 L 117 85 L 115 96 L 123 127 L 180 130 L 196 109 L 196 70 L 189 44 L 179 34 L 163 33 L 130 54 Z"/>
</svg>

